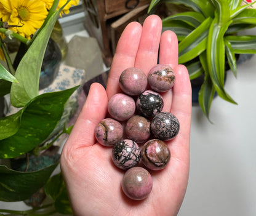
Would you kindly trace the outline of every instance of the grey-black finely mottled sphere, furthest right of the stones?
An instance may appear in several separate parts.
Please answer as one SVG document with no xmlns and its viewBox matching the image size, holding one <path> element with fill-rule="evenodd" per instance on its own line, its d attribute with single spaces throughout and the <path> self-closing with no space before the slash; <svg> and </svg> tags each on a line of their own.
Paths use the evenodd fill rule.
<svg viewBox="0 0 256 216">
<path fill-rule="evenodd" d="M 180 122 L 172 113 L 162 112 L 154 116 L 150 124 L 151 132 L 159 140 L 171 140 L 180 130 Z"/>
</svg>

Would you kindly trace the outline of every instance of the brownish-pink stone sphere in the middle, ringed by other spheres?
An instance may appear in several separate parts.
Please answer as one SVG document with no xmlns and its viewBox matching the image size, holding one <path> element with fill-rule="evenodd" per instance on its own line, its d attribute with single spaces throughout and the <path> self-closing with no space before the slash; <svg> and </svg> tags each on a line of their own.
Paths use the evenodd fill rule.
<svg viewBox="0 0 256 216">
<path fill-rule="evenodd" d="M 150 121 L 143 116 L 132 116 L 126 122 L 124 132 L 130 140 L 143 143 L 150 137 Z"/>
</svg>

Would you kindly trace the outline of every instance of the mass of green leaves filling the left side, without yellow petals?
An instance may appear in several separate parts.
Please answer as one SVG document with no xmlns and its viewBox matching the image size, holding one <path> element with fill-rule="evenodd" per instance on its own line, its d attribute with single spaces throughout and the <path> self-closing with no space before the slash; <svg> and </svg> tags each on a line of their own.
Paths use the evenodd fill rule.
<svg viewBox="0 0 256 216">
<path fill-rule="evenodd" d="M 50 143 L 46 143 L 46 139 L 62 118 L 68 98 L 78 88 L 38 95 L 39 75 L 47 42 L 58 15 L 65 7 L 64 5 L 56 10 L 57 5 L 58 0 L 55 0 L 44 24 L 33 38 L 24 38 L 22 41 L 22 46 L 26 46 L 27 51 L 18 63 L 17 69 L 14 70 L 8 56 L 6 60 L 9 71 L 0 64 L 0 97 L 10 93 L 12 106 L 20 107 L 17 113 L 0 118 L 2 161 L 6 161 L 6 158 L 25 160 L 31 154 L 36 157 L 42 150 L 50 148 L 59 135 Z M 64 127 L 60 134 L 70 134 L 72 128 L 73 126 Z M 72 214 L 61 174 L 50 178 L 58 162 L 33 172 L 20 172 L 13 167 L 11 169 L 0 165 L 0 201 L 24 201 L 44 186 L 47 195 L 53 199 L 52 204 L 25 211 L 0 209 L 0 215 L 51 215 L 52 212 Z"/>
</svg>

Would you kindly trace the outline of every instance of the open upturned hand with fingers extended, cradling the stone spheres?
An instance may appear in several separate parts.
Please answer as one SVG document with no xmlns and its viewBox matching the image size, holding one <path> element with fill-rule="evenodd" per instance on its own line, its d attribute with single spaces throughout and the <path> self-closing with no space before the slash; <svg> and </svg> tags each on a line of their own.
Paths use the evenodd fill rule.
<svg viewBox="0 0 256 216">
<path fill-rule="evenodd" d="M 190 162 L 191 85 L 185 66 L 178 65 L 178 42 L 172 31 L 161 34 L 162 22 L 150 15 L 143 27 L 132 22 L 119 39 L 106 91 L 97 83 L 90 87 L 86 103 L 63 147 L 60 166 L 74 215 L 177 215 L 185 196 Z M 159 50 L 159 52 L 158 52 Z M 94 129 L 106 118 L 108 98 L 120 92 L 119 75 L 135 66 L 145 73 L 157 64 L 175 71 L 173 89 L 161 94 L 164 109 L 180 122 L 177 137 L 169 142 L 167 167 L 150 171 L 153 189 L 148 198 L 133 201 L 121 189 L 124 170 L 111 161 L 110 147 L 97 143 Z"/>
</svg>

